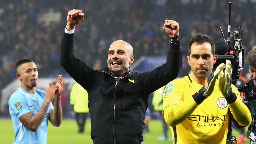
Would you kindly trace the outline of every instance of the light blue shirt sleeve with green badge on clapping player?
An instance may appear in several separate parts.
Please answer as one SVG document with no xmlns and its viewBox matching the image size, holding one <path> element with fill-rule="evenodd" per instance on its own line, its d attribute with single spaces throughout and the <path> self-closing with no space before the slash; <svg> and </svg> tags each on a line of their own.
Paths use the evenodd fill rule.
<svg viewBox="0 0 256 144">
<path fill-rule="evenodd" d="M 9 100 L 9 107 L 13 114 L 20 118 L 22 115 L 29 113 L 28 103 L 23 95 L 11 96 Z"/>
</svg>

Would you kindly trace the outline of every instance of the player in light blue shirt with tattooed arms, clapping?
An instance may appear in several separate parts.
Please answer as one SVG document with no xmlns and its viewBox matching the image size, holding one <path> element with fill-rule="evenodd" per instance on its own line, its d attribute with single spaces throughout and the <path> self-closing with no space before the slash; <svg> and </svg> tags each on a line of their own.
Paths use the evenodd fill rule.
<svg viewBox="0 0 256 144">
<path fill-rule="evenodd" d="M 54 126 L 60 126 L 62 121 L 62 75 L 56 85 L 49 82 L 50 87 L 44 91 L 36 89 L 38 71 L 32 60 L 18 61 L 16 71 L 21 87 L 8 102 L 15 132 L 13 144 L 46 144 L 48 120 Z"/>
</svg>

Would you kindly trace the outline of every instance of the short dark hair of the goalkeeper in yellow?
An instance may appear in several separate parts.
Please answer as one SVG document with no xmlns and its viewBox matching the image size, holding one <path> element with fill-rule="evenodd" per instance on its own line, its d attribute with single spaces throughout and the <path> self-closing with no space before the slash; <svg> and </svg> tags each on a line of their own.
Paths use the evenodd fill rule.
<svg viewBox="0 0 256 144">
<path fill-rule="evenodd" d="M 191 54 L 191 46 L 193 43 L 197 43 L 197 44 L 201 45 L 205 42 L 208 42 L 211 44 L 212 55 L 215 55 L 215 44 L 214 44 L 212 38 L 208 35 L 203 35 L 203 34 L 197 34 L 191 38 L 191 40 L 189 41 L 189 44 L 188 44 L 188 55 L 190 56 L 190 54 Z"/>
</svg>

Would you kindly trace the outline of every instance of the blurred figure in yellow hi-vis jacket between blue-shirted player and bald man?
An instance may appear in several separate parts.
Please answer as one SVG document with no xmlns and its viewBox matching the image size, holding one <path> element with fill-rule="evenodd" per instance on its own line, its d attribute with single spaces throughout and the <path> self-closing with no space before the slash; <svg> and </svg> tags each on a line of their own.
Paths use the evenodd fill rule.
<svg viewBox="0 0 256 144">
<path fill-rule="evenodd" d="M 85 120 L 89 114 L 88 93 L 77 82 L 74 83 L 70 92 L 70 104 L 74 106 L 75 118 L 78 124 L 78 132 L 83 133 Z"/>
</svg>

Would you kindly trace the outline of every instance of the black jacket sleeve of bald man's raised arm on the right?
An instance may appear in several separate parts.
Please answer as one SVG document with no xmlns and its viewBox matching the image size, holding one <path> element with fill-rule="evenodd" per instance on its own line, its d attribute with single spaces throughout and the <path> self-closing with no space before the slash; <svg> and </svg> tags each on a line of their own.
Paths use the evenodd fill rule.
<svg viewBox="0 0 256 144">
<path fill-rule="evenodd" d="M 177 78 L 182 64 L 180 40 L 170 43 L 166 63 L 152 71 L 141 73 L 139 81 L 145 92 L 151 93 Z"/>
</svg>

